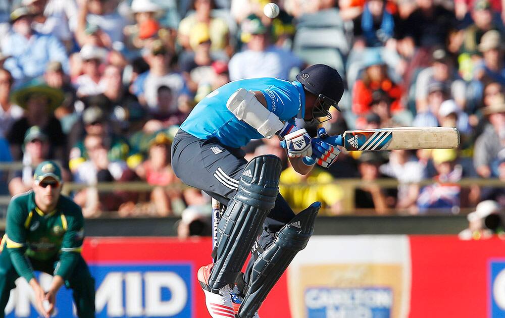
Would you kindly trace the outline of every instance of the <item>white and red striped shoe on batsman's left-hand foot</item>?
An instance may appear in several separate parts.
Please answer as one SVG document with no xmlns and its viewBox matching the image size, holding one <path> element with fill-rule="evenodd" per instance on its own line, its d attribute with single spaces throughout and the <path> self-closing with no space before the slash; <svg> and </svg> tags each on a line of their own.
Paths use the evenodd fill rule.
<svg viewBox="0 0 505 318">
<path fill-rule="evenodd" d="M 229 285 L 216 291 L 209 286 L 213 263 L 200 267 L 197 278 L 205 294 L 205 305 L 212 318 L 235 318 Z"/>
</svg>

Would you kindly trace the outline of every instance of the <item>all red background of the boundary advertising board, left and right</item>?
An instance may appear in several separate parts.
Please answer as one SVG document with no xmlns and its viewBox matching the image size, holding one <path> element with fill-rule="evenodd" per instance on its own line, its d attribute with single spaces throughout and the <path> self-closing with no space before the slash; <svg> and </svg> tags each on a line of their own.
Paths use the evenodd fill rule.
<svg viewBox="0 0 505 318">
<path fill-rule="evenodd" d="M 409 236 L 412 288 L 410 318 L 491 317 L 490 262 L 505 261 L 505 241 L 461 241 L 456 236 Z M 90 264 L 191 263 L 195 317 L 209 317 L 196 270 L 210 262 L 210 238 L 87 238 L 83 256 Z M 283 275 L 263 304 L 262 318 L 289 318 Z"/>
</svg>

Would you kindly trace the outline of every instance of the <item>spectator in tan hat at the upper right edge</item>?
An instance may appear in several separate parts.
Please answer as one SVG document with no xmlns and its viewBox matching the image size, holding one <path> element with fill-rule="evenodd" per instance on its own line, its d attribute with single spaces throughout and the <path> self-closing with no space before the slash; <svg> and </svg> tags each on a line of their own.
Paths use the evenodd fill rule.
<svg viewBox="0 0 505 318">
<path fill-rule="evenodd" d="M 505 85 L 505 67 L 503 67 L 503 43 L 496 30 L 487 31 L 482 36 L 479 50 L 482 52 L 482 63 L 476 66 L 475 78 L 491 80 Z"/>
</svg>

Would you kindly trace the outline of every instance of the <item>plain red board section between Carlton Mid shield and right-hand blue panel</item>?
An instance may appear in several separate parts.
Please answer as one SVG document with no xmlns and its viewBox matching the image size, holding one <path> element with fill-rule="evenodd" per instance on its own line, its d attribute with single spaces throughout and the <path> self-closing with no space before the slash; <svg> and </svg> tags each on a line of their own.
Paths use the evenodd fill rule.
<svg viewBox="0 0 505 318">
<path fill-rule="evenodd" d="M 411 318 L 489 317 L 489 262 L 505 259 L 498 238 L 411 235 Z"/>
</svg>

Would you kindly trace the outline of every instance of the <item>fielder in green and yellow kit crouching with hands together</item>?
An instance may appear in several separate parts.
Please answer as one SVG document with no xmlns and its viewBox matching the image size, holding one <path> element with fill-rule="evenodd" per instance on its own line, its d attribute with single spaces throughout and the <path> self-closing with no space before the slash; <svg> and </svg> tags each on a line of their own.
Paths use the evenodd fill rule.
<svg viewBox="0 0 505 318">
<path fill-rule="evenodd" d="M 37 166 L 32 190 L 14 196 L 7 208 L 6 234 L 0 245 L 0 317 L 10 290 L 23 277 L 33 288 L 35 306 L 48 318 L 64 284 L 73 290 L 77 315 L 94 317 L 94 280 L 80 251 L 84 238 L 81 208 L 61 194 L 62 175 L 55 162 Z M 53 275 L 47 291 L 33 271 Z"/>
</svg>

